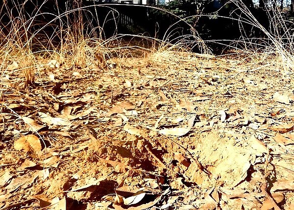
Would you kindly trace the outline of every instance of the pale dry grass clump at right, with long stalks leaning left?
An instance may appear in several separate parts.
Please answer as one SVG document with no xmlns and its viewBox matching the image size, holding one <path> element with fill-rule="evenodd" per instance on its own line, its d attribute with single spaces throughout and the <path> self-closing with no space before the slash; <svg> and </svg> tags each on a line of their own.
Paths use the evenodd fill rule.
<svg viewBox="0 0 294 210">
<path fill-rule="evenodd" d="M 244 59 L 271 61 L 274 57 L 278 69 L 285 71 L 290 69 L 292 71 L 294 69 L 294 48 L 290 26 L 293 26 L 294 23 L 286 20 L 281 11 L 270 8 L 266 11 L 270 28 L 265 28 L 242 1 L 231 0 L 228 3 L 233 3 L 237 8 L 236 11 L 239 12 L 238 18 L 229 19 L 239 23 L 243 35 L 239 40 L 208 40 L 208 42 L 224 45 L 227 49 L 235 49 Z M 264 38 L 254 38 L 252 35 L 250 37 L 246 34 L 245 27 L 252 27 L 254 30 L 261 31 L 261 36 Z M 224 44 L 227 42 L 229 44 Z"/>
</svg>

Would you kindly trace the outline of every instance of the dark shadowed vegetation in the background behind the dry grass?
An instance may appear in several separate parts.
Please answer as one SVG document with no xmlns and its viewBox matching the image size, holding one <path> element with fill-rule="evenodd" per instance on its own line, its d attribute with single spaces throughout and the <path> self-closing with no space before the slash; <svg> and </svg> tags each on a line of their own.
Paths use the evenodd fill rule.
<svg viewBox="0 0 294 210">
<path fill-rule="evenodd" d="M 147 0 L 147 5 L 170 11 L 176 16 L 163 10 L 112 0 L 4 0 L 0 23 L 3 31 L 9 33 L 12 24 L 25 20 L 20 29 L 46 34 L 71 27 L 82 19 L 84 32 L 91 36 L 108 38 L 127 33 L 166 40 L 191 34 L 192 26 L 203 40 L 211 40 L 213 45 L 240 37 L 264 37 L 259 28 L 241 24 L 239 20 L 246 17 L 238 5 L 245 6 L 267 30 L 272 29 L 270 20 L 276 13 L 289 21 L 294 15 L 294 0 L 173 0 L 165 5 Z M 74 10 L 80 7 L 83 9 Z M 132 22 L 122 23 L 122 16 L 127 16 Z M 58 40 L 58 37 L 54 38 Z"/>
</svg>

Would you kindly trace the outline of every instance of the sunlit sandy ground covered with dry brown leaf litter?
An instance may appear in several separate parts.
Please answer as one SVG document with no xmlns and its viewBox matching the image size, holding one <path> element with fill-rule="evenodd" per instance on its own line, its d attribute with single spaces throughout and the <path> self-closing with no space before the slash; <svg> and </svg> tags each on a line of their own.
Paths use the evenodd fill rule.
<svg viewBox="0 0 294 210">
<path fill-rule="evenodd" d="M 292 78 L 179 51 L 108 62 L 51 60 L 30 90 L 7 67 L 0 210 L 294 209 Z"/>
</svg>

